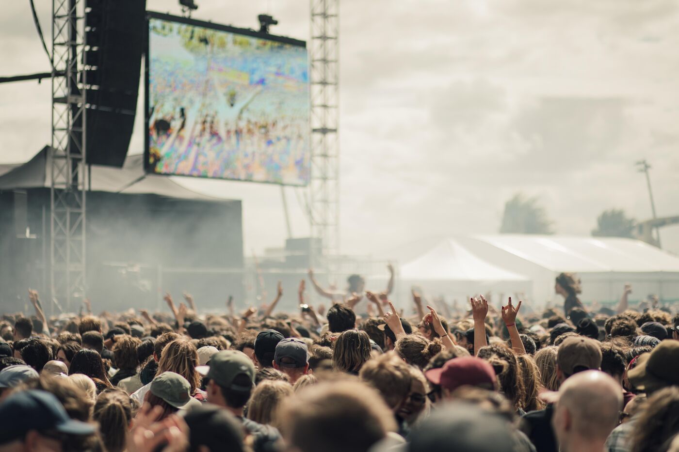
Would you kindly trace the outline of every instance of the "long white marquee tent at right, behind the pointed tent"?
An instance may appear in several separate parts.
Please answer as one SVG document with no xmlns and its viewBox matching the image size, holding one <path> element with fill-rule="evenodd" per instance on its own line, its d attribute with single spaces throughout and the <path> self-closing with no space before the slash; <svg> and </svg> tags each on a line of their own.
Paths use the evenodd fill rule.
<svg viewBox="0 0 679 452">
<path fill-rule="evenodd" d="M 460 238 L 460 244 L 532 280 L 536 303 L 560 301 L 554 280 L 562 271 L 580 276 L 583 301 L 615 301 L 625 282 L 633 286 L 631 301 L 649 294 L 679 299 L 679 258 L 639 240 L 503 234 Z"/>
</svg>

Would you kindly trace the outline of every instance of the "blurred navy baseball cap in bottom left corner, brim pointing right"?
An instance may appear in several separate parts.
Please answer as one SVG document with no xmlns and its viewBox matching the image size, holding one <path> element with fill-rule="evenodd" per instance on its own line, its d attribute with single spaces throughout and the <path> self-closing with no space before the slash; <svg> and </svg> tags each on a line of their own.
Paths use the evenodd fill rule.
<svg viewBox="0 0 679 452">
<path fill-rule="evenodd" d="M 0 444 L 23 438 L 30 430 L 57 430 L 72 435 L 95 432 L 92 424 L 70 419 L 59 400 L 49 392 L 16 392 L 0 404 Z"/>
</svg>

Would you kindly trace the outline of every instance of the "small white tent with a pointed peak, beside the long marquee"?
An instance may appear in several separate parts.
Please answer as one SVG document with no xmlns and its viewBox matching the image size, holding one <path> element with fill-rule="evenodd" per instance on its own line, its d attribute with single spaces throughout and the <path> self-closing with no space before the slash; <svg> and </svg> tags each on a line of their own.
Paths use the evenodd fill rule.
<svg viewBox="0 0 679 452">
<path fill-rule="evenodd" d="M 530 293 L 529 278 L 474 255 L 457 240 L 447 239 L 401 266 L 401 293 L 419 286 L 430 296 L 462 301 L 469 295 L 492 292 Z"/>
</svg>

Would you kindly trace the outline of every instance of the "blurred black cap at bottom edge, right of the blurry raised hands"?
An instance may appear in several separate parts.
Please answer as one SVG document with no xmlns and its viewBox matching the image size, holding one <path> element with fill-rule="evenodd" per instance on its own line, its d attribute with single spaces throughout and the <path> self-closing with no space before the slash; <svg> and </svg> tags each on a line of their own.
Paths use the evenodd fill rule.
<svg viewBox="0 0 679 452">
<path fill-rule="evenodd" d="M 231 413 L 216 405 L 201 404 L 184 416 L 189 426 L 190 449 L 207 446 L 210 451 L 240 451 L 243 433 L 240 422 Z"/>
</svg>

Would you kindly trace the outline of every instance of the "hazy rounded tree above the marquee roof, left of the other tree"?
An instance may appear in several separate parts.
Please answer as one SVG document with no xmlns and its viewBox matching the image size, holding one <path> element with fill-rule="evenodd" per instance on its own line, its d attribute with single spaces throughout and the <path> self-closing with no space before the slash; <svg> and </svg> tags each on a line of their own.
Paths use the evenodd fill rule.
<svg viewBox="0 0 679 452">
<path fill-rule="evenodd" d="M 538 198 L 526 198 L 517 193 L 504 204 L 502 226 L 500 233 L 517 234 L 551 234 L 552 222 L 547 219 L 547 213 L 538 205 Z"/>
</svg>

